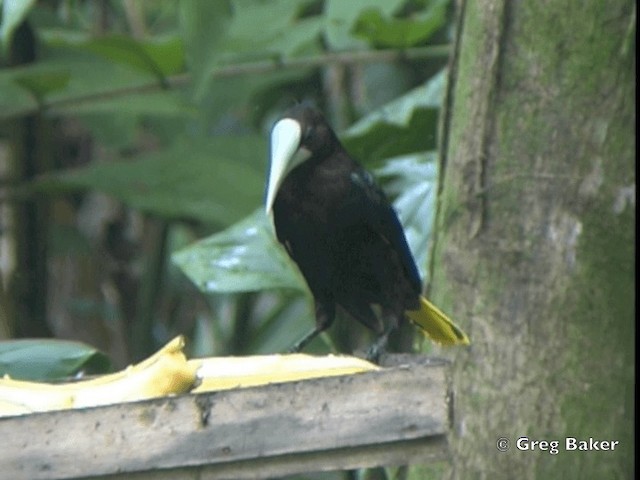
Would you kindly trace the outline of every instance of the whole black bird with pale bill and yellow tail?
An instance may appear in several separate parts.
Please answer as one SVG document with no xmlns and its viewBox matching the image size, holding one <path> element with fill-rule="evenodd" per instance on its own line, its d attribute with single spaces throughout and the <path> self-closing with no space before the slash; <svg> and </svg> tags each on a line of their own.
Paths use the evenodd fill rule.
<svg viewBox="0 0 640 480">
<path fill-rule="evenodd" d="M 420 276 L 395 211 L 308 104 L 289 109 L 273 127 L 265 208 L 315 301 L 315 328 L 293 351 L 332 324 L 337 306 L 379 335 L 369 351 L 373 358 L 405 316 L 437 343 L 469 343 L 421 296 Z M 379 316 L 372 305 L 379 306 Z"/>
</svg>

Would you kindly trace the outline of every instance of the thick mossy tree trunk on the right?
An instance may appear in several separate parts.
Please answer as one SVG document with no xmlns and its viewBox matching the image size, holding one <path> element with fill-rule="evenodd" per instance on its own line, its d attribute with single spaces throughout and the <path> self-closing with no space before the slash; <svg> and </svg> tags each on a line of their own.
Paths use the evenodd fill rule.
<svg viewBox="0 0 640 480">
<path fill-rule="evenodd" d="M 634 478 L 635 3 L 460 7 L 430 291 L 472 342 L 450 476 Z"/>
</svg>

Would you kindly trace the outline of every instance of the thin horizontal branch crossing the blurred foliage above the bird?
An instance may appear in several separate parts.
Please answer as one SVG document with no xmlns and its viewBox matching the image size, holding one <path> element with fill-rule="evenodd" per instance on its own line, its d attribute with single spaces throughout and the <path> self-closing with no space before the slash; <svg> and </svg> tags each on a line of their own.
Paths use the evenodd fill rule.
<svg viewBox="0 0 640 480">
<path fill-rule="evenodd" d="M 229 78 L 243 75 L 266 74 L 283 70 L 295 70 L 302 68 L 321 67 L 331 64 L 359 64 L 373 62 L 393 62 L 403 60 L 419 60 L 427 58 L 446 58 L 449 55 L 448 45 L 432 47 L 410 48 L 407 50 L 362 50 L 351 52 L 326 53 L 302 58 L 272 58 L 256 62 L 248 62 L 233 65 L 222 65 L 211 72 L 212 78 Z M 165 86 L 178 88 L 188 85 L 192 78 L 189 73 L 180 73 L 166 78 Z M 161 91 L 165 88 L 158 81 L 150 81 L 140 85 L 116 88 L 113 90 L 90 93 L 72 98 L 43 100 L 39 106 L 25 107 L 14 111 L 7 116 L 0 114 L 0 119 L 27 115 L 41 109 L 42 111 L 55 113 L 57 110 L 77 107 L 79 105 L 109 100 L 113 98 Z"/>
</svg>

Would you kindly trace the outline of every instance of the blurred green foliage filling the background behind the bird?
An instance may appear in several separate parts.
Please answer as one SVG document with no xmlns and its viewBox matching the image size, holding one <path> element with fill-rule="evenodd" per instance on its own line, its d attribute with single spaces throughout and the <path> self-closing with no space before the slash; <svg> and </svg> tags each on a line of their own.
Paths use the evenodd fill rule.
<svg viewBox="0 0 640 480">
<path fill-rule="evenodd" d="M 111 275 L 119 300 L 103 295 L 96 311 L 109 312 L 108 329 L 125 329 L 129 360 L 175 333 L 211 355 L 283 350 L 311 328 L 304 283 L 261 213 L 268 131 L 296 100 L 342 115 L 334 124 L 352 124 L 341 135 L 345 146 L 395 200 L 424 272 L 446 65 L 446 52 L 430 47 L 448 41 L 447 7 L 443 0 L 2 1 L 0 124 L 38 114 L 61 144 L 89 138 L 89 153 L 80 155 L 76 143 L 73 153 L 52 151 L 55 168 L 20 191 L 71 206 L 71 226 L 55 217 L 48 230 L 71 229 L 93 245 L 78 258 L 95 260 L 104 245 L 124 252 L 98 270 L 125 271 L 135 288 Z M 38 55 L 10 66 L 24 21 Z M 333 104 L 339 94 L 346 110 Z M 130 238 L 107 222 L 101 239 L 89 238 L 81 212 L 95 192 L 129 216 L 141 214 L 143 232 Z M 104 282 L 96 277 L 103 292 Z"/>
</svg>

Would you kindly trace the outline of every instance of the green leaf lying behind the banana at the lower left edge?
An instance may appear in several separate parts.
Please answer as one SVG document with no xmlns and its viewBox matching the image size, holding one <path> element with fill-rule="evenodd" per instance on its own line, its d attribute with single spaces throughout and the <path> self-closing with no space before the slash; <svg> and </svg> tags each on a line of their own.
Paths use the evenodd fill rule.
<svg viewBox="0 0 640 480">
<path fill-rule="evenodd" d="M 105 373 L 108 357 L 94 347 L 66 340 L 10 340 L 0 342 L 0 377 L 55 380 L 83 371 Z"/>
</svg>

